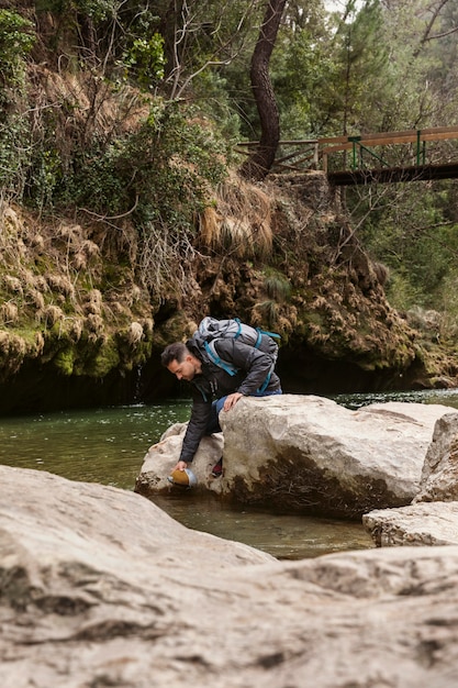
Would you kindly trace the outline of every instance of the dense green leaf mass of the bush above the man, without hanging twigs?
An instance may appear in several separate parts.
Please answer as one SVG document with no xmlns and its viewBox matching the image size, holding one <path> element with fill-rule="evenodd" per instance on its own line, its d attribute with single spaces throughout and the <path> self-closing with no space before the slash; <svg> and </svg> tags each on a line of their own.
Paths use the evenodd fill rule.
<svg viewBox="0 0 458 688">
<path fill-rule="evenodd" d="M 136 131 L 111 141 L 94 136 L 54 200 L 72 199 L 101 215 L 132 212 L 141 225 L 157 215 L 189 222 L 225 174 L 225 153 L 197 113 L 158 100 Z"/>
</svg>

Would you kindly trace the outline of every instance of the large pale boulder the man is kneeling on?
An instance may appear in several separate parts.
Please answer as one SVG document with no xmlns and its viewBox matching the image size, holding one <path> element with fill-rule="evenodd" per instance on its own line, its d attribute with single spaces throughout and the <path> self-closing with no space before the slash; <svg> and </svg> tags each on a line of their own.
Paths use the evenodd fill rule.
<svg viewBox="0 0 458 688">
<path fill-rule="evenodd" d="M 202 488 L 242 502 L 359 518 L 412 501 L 435 423 L 449 413 L 440 404 L 390 402 L 351 411 L 314 396 L 245 398 L 220 414 L 224 477 L 210 477 L 222 445 L 203 446 L 193 469 Z M 181 440 L 174 434 L 152 447 L 137 491 L 165 489 Z"/>
</svg>

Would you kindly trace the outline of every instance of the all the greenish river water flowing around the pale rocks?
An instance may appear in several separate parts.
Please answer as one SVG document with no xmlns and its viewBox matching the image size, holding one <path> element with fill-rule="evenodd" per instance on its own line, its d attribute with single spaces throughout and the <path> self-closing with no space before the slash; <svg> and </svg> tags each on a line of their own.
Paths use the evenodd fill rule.
<svg viewBox="0 0 458 688">
<path fill-rule="evenodd" d="M 335 400 L 348 408 L 398 400 L 457 409 L 458 391 L 346 395 Z M 188 420 L 189 411 L 188 400 L 170 400 L 4 418 L 0 421 L 0 463 L 132 490 L 149 446 L 172 423 Z M 373 546 L 360 523 L 228 507 L 214 496 L 197 498 L 192 490 L 170 490 L 154 501 L 189 528 L 244 542 L 278 558 Z"/>
</svg>

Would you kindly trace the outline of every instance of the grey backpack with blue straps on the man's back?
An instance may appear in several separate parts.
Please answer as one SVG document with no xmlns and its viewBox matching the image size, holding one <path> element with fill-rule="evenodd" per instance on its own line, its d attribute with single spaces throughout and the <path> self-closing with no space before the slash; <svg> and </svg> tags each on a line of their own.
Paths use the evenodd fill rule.
<svg viewBox="0 0 458 688">
<path fill-rule="evenodd" d="M 266 332 L 259 328 L 252 328 L 250 325 L 241 322 L 238 318 L 234 318 L 233 320 L 216 320 L 216 318 L 211 318 L 210 315 L 204 318 L 201 321 L 199 329 L 194 332 L 193 340 L 200 346 L 203 346 L 206 355 L 210 360 L 214 363 L 214 365 L 225 370 L 228 375 L 234 376 L 238 373 L 238 368 L 236 368 L 232 363 L 223 360 L 215 349 L 216 340 L 226 340 L 231 337 L 238 340 L 243 344 L 258 348 L 265 354 L 269 354 L 271 357 L 272 365 L 270 371 L 258 390 L 264 391 L 270 381 L 270 376 L 277 363 L 278 356 L 278 344 L 272 337 L 280 339 L 280 335 L 275 332 Z"/>
</svg>

